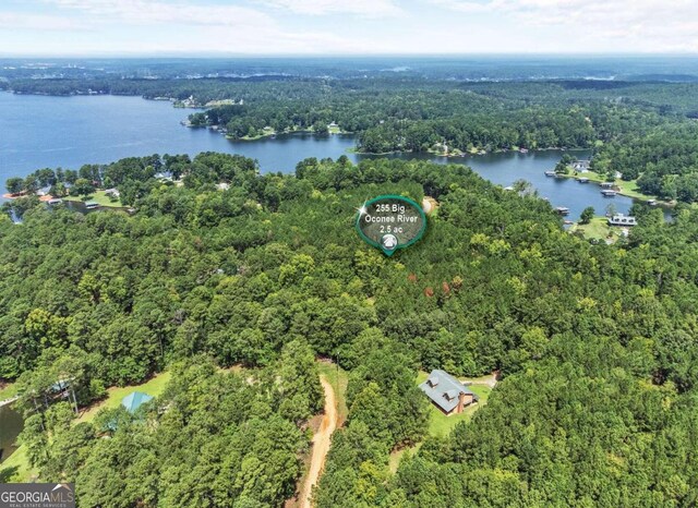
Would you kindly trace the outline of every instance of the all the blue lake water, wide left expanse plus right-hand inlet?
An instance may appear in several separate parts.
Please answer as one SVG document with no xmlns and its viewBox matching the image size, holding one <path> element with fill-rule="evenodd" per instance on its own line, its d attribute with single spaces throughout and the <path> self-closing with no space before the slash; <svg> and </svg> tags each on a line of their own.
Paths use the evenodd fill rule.
<svg viewBox="0 0 698 508">
<path fill-rule="evenodd" d="M 123 157 L 152 154 L 196 155 L 200 152 L 241 154 L 260 161 L 263 171 L 293 171 L 306 157 L 352 161 L 373 156 L 348 154 L 352 136 L 315 137 L 310 134 L 277 136 L 276 140 L 230 142 L 205 129 L 186 129 L 180 121 L 191 110 L 176 109 L 166 101 L 140 97 L 79 96 L 45 97 L 0 93 L 0 186 L 13 176 L 25 176 L 38 168 L 79 169 L 84 164 L 110 162 Z M 420 154 L 436 162 L 466 164 L 484 178 L 510 185 L 528 180 L 554 206 L 567 206 L 576 219 L 587 206 L 601 215 L 613 203 L 626 213 L 633 201 L 617 196 L 605 198 L 594 184 L 547 178 L 543 171 L 559 160 L 559 152 L 506 153 L 478 157 L 450 158 Z M 576 154 L 583 158 L 588 153 Z M 414 155 L 393 155 L 413 158 Z"/>
</svg>

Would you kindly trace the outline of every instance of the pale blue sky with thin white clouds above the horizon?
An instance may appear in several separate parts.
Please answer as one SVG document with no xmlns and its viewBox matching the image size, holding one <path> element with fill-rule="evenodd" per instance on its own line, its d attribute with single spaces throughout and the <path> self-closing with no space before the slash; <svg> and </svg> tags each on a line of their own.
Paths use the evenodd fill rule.
<svg viewBox="0 0 698 508">
<path fill-rule="evenodd" d="M 696 0 L 1 0 L 0 53 L 698 52 Z"/>
</svg>

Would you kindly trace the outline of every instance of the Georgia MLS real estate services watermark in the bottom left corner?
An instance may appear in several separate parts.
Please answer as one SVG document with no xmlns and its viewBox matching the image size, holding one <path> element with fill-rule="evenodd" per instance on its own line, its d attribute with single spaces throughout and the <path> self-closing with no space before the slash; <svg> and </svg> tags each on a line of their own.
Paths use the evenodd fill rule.
<svg viewBox="0 0 698 508">
<path fill-rule="evenodd" d="M 0 508 L 75 508 L 72 483 L 2 483 Z"/>
</svg>

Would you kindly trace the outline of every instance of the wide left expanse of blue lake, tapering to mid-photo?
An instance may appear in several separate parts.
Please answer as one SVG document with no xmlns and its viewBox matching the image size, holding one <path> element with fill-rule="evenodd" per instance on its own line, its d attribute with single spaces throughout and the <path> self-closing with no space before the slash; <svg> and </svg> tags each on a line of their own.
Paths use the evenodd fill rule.
<svg viewBox="0 0 698 508">
<path fill-rule="evenodd" d="M 337 157 L 353 146 L 346 136 L 230 142 L 180 124 L 192 112 L 140 97 L 45 97 L 0 93 L 0 182 L 39 168 L 152 154 L 227 152 L 256 158 L 266 171 L 291 171 L 305 157 Z"/>
</svg>

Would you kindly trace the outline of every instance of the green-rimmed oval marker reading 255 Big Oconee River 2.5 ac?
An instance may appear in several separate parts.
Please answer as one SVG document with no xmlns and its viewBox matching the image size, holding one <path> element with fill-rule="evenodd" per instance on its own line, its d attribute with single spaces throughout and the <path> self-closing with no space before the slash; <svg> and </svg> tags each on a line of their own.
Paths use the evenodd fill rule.
<svg viewBox="0 0 698 508">
<path fill-rule="evenodd" d="M 425 230 L 424 210 L 409 197 L 392 194 L 374 197 L 357 214 L 359 235 L 388 256 L 417 242 Z"/>
</svg>

